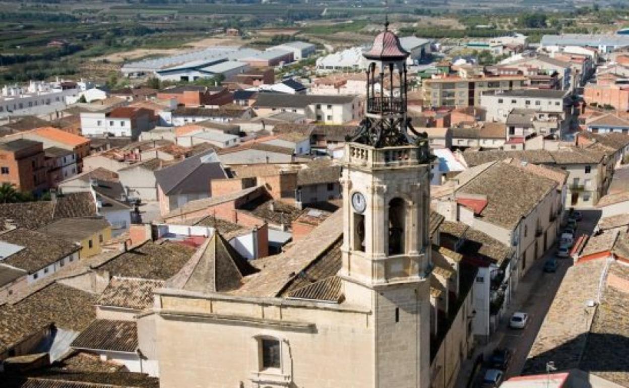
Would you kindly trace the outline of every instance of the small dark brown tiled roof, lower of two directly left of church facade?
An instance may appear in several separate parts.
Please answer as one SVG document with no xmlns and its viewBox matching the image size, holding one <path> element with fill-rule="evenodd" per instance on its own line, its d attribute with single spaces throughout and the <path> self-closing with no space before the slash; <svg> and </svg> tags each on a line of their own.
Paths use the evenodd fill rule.
<svg viewBox="0 0 629 388">
<path fill-rule="evenodd" d="M 76 349 L 135 353 L 138 348 L 138 328 L 135 321 L 94 319 L 70 346 Z"/>
</svg>

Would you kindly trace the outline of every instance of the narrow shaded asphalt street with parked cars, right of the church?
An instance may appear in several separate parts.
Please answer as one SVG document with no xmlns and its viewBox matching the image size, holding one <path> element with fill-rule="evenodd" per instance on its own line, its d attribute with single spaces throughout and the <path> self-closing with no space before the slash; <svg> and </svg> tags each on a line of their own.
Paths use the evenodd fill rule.
<svg viewBox="0 0 629 388">
<path fill-rule="evenodd" d="M 598 211 L 582 211 L 583 219 L 577 225 L 577 236 L 589 235 L 594 230 L 594 226 L 598 223 L 599 212 Z M 518 290 L 515 292 L 515 297 L 511 302 L 511 305 L 506 309 L 503 319 L 501 320 L 498 330 L 491 336 L 491 340 L 487 345 L 480 345 L 477 348 L 477 353 L 471 360 L 467 360 L 462 367 L 459 380 L 455 385 L 457 388 L 464 388 L 467 386 L 472 369 L 470 364 L 481 352 L 487 359 L 494 349 L 496 348 L 508 348 L 513 352 L 513 357 L 506 370 L 505 379 L 509 377 L 518 376 L 521 374 L 525 362 L 526 356 L 535 341 L 540 327 L 542 326 L 543 319 L 545 318 L 550 305 L 557 294 L 557 290 L 564 278 L 565 272 L 571 267 L 571 258 L 559 258 L 557 262 L 559 266 L 554 273 L 546 273 L 543 271 L 543 266 L 546 260 L 555 256 L 555 250 L 557 246 L 550 247 L 543 257 L 539 258 L 533 267 L 531 267 L 526 275 L 520 280 Z M 509 318 L 515 311 L 521 311 L 528 314 L 528 324 L 524 329 L 511 329 L 509 328 Z M 467 370 L 465 370 L 467 367 Z M 483 367 L 474 376 L 474 385 L 479 386 L 482 381 L 482 376 L 486 368 Z"/>
</svg>

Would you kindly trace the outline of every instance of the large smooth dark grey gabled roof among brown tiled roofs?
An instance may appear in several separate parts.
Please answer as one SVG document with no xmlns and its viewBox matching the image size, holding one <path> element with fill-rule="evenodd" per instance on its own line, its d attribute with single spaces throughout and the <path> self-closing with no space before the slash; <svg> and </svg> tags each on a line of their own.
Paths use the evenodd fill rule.
<svg viewBox="0 0 629 388">
<path fill-rule="evenodd" d="M 175 165 L 155 171 L 157 184 L 167 195 L 199 192 L 209 194 L 210 180 L 226 177 L 227 174 L 213 150 L 199 153 Z"/>
</svg>

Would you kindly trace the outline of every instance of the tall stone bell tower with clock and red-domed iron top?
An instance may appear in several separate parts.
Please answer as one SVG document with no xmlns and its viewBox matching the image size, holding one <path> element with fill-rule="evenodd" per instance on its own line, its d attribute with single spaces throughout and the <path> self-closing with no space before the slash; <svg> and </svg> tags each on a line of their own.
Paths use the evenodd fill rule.
<svg viewBox="0 0 629 388">
<path fill-rule="evenodd" d="M 374 312 L 374 386 L 430 384 L 431 154 L 406 117 L 406 59 L 388 30 L 364 53 L 366 114 L 343 161 L 343 278 Z"/>
</svg>

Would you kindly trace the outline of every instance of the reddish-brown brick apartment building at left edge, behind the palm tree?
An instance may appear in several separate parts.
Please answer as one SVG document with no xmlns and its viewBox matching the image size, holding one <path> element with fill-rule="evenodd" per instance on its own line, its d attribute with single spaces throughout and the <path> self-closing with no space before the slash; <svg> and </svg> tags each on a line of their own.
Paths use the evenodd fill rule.
<svg viewBox="0 0 629 388">
<path fill-rule="evenodd" d="M 18 139 L 0 143 L 0 184 L 21 192 L 37 192 L 48 185 L 45 153 L 40 141 Z"/>
</svg>

